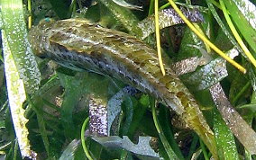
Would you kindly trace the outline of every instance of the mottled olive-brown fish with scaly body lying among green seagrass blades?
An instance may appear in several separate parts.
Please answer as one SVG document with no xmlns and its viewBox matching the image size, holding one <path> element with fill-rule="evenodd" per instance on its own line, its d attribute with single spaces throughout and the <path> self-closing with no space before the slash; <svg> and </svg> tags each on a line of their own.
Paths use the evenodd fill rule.
<svg viewBox="0 0 256 160">
<path fill-rule="evenodd" d="M 176 111 L 216 154 L 214 134 L 193 95 L 168 65 L 164 64 L 166 76 L 161 74 L 157 52 L 142 40 L 84 19 L 41 22 L 30 31 L 29 39 L 39 57 L 113 76 L 151 94 Z"/>
</svg>

